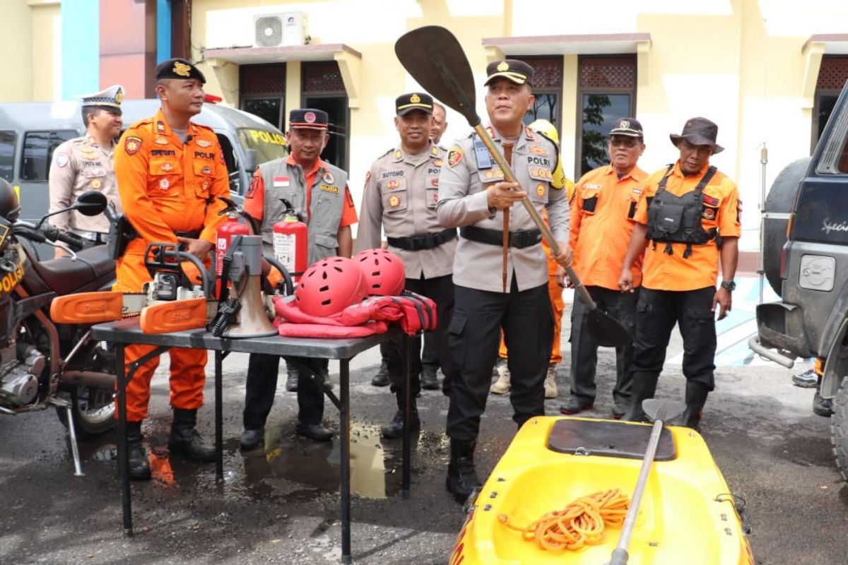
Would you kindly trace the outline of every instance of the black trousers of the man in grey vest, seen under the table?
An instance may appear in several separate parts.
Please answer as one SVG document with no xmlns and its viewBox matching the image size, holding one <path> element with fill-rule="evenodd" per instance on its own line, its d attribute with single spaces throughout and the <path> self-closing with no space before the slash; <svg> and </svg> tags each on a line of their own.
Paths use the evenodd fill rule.
<svg viewBox="0 0 848 565">
<path fill-rule="evenodd" d="M 326 374 L 329 360 L 311 357 L 286 357 L 302 363 L 318 374 Z M 296 364 L 293 364 L 297 367 Z M 271 413 L 276 395 L 276 379 L 279 374 L 280 357 L 251 353 L 248 358 L 248 380 L 244 392 L 244 429 L 261 429 Z M 304 424 L 320 424 L 324 417 L 324 392 L 321 386 L 303 371 L 298 378 L 298 420 Z"/>
</svg>

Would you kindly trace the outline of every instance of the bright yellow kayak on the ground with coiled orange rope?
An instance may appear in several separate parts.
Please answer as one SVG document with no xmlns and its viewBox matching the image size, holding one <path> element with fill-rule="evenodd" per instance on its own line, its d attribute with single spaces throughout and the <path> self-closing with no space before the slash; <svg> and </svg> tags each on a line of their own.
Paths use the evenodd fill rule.
<svg viewBox="0 0 848 565">
<path fill-rule="evenodd" d="M 529 420 L 468 507 L 449 565 L 608 562 L 620 525 L 605 527 L 596 545 L 550 551 L 499 515 L 523 527 L 601 490 L 632 497 L 650 431 L 615 420 Z M 754 565 L 734 496 L 695 430 L 663 429 L 628 551 L 629 565 Z"/>
</svg>

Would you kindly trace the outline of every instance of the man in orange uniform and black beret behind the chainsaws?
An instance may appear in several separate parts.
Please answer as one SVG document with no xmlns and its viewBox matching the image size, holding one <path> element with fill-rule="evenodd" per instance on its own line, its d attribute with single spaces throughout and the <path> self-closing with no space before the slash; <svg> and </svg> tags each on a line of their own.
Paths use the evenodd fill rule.
<svg viewBox="0 0 848 565">
<path fill-rule="evenodd" d="M 181 243 L 206 260 L 215 229 L 225 216 L 218 199 L 230 186 L 215 132 L 190 119 L 204 104 L 204 75 L 185 59 L 169 59 L 156 68 L 156 94 L 162 108 L 153 118 L 131 125 L 114 153 L 115 177 L 126 218 L 138 236 L 126 246 L 116 265 L 114 290 L 140 292 L 151 280 L 144 265 L 148 243 Z M 190 280 L 197 269 L 185 268 Z M 126 366 L 151 352 L 153 346 L 127 346 Z M 159 357 L 139 368 L 126 386 L 127 442 L 131 479 L 149 479 L 150 464 L 142 447 L 142 419 L 148 415 L 150 379 Z M 204 403 L 206 352 L 170 350 L 170 406 L 174 408 L 168 446 L 198 461 L 215 460 L 215 449 L 204 443 L 195 425 Z"/>
</svg>

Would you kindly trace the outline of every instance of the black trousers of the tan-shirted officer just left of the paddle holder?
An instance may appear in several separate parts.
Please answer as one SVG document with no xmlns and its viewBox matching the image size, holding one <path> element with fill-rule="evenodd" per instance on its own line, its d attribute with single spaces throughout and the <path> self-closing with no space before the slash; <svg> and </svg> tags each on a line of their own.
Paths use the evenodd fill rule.
<svg viewBox="0 0 848 565">
<path fill-rule="evenodd" d="M 445 375 L 453 373 L 453 366 L 448 357 L 448 329 L 450 319 L 454 316 L 454 280 L 452 274 L 433 279 L 407 279 L 406 290 L 427 296 L 436 302 L 436 330 L 433 330 L 436 341 L 436 355 Z M 392 381 L 392 392 L 404 390 L 404 352 L 403 344 L 398 341 L 388 343 L 388 376 Z M 421 335 L 412 340 L 412 357 L 410 357 L 410 393 L 412 397 L 421 392 Z"/>
</svg>

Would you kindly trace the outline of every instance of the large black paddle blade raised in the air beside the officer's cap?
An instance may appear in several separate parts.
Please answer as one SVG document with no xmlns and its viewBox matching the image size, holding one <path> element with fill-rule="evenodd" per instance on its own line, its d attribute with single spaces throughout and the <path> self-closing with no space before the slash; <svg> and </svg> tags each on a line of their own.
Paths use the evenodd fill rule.
<svg viewBox="0 0 848 565">
<path fill-rule="evenodd" d="M 425 25 L 400 36 L 394 53 L 433 98 L 465 116 L 471 127 L 480 124 L 474 75 L 454 34 L 440 25 Z"/>
</svg>

